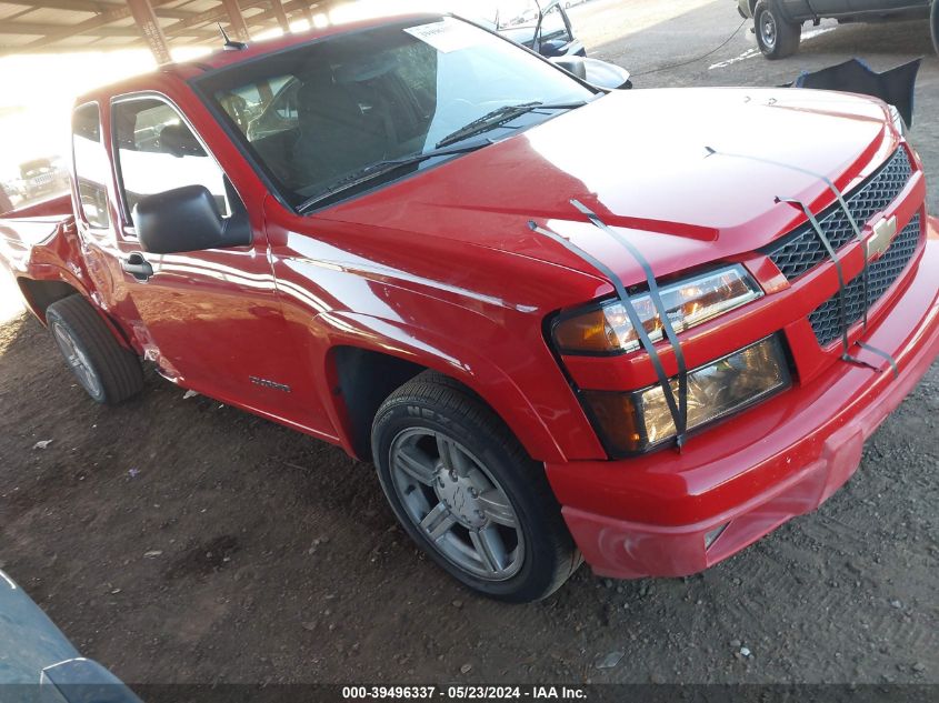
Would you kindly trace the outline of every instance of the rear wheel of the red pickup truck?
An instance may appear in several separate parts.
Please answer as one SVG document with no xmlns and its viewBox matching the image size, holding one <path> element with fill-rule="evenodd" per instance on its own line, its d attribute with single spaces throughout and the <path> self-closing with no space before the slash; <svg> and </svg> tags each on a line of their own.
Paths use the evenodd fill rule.
<svg viewBox="0 0 939 703">
<path fill-rule="evenodd" d="M 104 321 L 81 295 L 49 305 L 46 323 L 81 386 L 97 403 L 116 405 L 143 389 L 137 355 L 114 339 Z"/>
</svg>

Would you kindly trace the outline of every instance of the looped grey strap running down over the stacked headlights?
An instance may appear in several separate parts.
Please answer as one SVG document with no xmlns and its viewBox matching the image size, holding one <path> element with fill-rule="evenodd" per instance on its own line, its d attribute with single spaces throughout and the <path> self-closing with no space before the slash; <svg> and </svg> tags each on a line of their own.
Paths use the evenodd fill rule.
<svg viewBox="0 0 939 703">
<path fill-rule="evenodd" d="M 659 287 L 658 282 L 656 281 L 655 273 L 652 272 L 649 262 L 646 260 L 642 253 L 638 249 L 636 249 L 632 242 L 621 237 L 618 232 L 616 232 L 606 223 L 603 223 L 597 214 L 591 212 L 579 201 L 572 200 L 571 204 L 575 205 L 578 210 L 580 210 L 580 212 L 586 214 L 591 221 L 591 223 L 593 223 L 605 233 L 612 237 L 612 239 L 619 244 L 625 247 L 639 262 L 640 267 L 642 267 L 642 270 L 646 273 L 646 281 L 649 285 L 649 295 L 652 300 L 652 304 L 656 307 L 656 311 L 659 313 L 659 317 L 662 320 L 662 327 L 665 328 L 666 337 L 671 343 L 672 351 L 675 352 L 676 360 L 678 362 L 677 399 L 675 391 L 672 391 L 669 375 L 668 373 L 666 373 L 665 365 L 662 364 L 661 356 L 659 355 L 659 352 L 656 349 L 652 339 L 649 337 L 649 333 L 646 331 L 646 325 L 639 318 L 639 313 L 636 311 L 636 308 L 632 304 L 632 300 L 629 298 L 629 293 L 627 292 L 626 287 L 623 285 L 622 280 L 619 278 L 619 275 L 617 275 L 617 273 L 613 272 L 613 270 L 610 269 L 602 261 L 588 253 L 567 238 L 561 237 L 557 232 L 552 232 L 551 230 L 539 227 L 535 221 L 530 221 L 528 223 L 528 227 L 531 229 L 531 231 L 541 234 L 542 237 L 551 239 L 576 257 L 582 259 L 588 264 L 597 269 L 603 277 L 606 277 L 610 281 L 617 292 L 617 297 L 619 298 L 623 310 L 626 310 L 626 315 L 627 318 L 629 318 L 630 324 L 636 330 L 636 333 L 639 337 L 639 342 L 641 343 L 642 349 L 646 350 L 646 352 L 649 354 L 649 359 L 652 362 L 652 368 L 656 371 L 656 378 L 658 379 L 659 385 L 662 389 L 662 394 L 665 395 L 666 403 L 668 404 L 669 413 L 671 414 L 672 422 L 675 423 L 675 444 L 678 451 L 681 451 L 681 448 L 685 445 L 686 435 L 688 433 L 688 368 L 685 363 L 685 354 L 681 351 L 681 345 L 678 342 L 678 335 L 676 334 L 671 321 L 669 320 L 668 314 L 666 313 L 665 303 L 662 302 L 661 295 L 659 293 Z"/>
</svg>

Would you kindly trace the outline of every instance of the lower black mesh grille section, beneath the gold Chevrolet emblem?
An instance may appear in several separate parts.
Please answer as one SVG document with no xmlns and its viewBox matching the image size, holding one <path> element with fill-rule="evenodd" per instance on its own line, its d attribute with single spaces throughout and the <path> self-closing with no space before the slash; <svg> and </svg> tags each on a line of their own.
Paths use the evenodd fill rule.
<svg viewBox="0 0 939 703">
<path fill-rule="evenodd" d="M 890 249 L 868 265 L 868 300 L 871 307 L 900 278 L 916 252 L 920 234 L 920 215 L 917 213 L 893 240 Z M 838 293 L 836 293 L 809 315 L 809 322 L 821 347 L 828 345 L 841 335 L 841 315 L 838 305 Z M 845 318 L 848 327 L 863 318 L 863 313 L 865 288 L 863 274 L 861 274 L 845 287 Z"/>
</svg>

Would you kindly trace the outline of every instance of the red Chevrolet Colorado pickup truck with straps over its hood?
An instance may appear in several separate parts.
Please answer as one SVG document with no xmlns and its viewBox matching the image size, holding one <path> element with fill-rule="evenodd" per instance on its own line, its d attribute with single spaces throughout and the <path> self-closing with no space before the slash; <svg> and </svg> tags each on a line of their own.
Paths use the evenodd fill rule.
<svg viewBox="0 0 939 703">
<path fill-rule="evenodd" d="M 96 401 L 143 359 L 339 444 L 477 591 L 726 559 L 939 351 L 939 222 L 879 101 L 607 92 L 444 16 L 232 49 L 80 99 L 71 199 L 2 258 Z"/>
</svg>

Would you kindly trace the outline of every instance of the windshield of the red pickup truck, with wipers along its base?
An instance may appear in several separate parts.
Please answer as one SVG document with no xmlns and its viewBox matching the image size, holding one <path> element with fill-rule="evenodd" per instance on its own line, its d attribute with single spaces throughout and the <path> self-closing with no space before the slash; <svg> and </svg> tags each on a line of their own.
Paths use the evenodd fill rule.
<svg viewBox="0 0 939 703">
<path fill-rule="evenodd" d="M 293 207 L 334 192 L 372 164 L 419 157 L 444 140 L 459 145 L 462 134 L 502 139 L 558 114 L 517 110 L 481 120 L 508 106 L 570 107 L 595 94 L 456 18 L 330 37 L 198 84 Z M 418 159 L 384 180 L 442 158 L 457 154 Z"/>
</svg>

